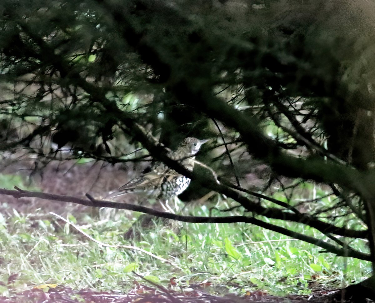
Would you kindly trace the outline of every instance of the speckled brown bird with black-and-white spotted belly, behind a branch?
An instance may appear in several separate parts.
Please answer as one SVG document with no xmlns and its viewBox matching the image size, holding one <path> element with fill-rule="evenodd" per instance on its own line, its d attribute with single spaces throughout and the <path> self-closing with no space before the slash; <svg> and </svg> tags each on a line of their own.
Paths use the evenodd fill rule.
<svg viewBox="0 0 375 303">
<path fill-rule="evenodd" d="M 189 171 L 193 171 L 195 155 L 208 139 L 197 139 L 188 137 L 184 139 L 174 151 L 169 150 L 167 155 L 172 160 L 177 160 Z M 144 171 L 138 177 L 130 180 L 115 192 L 110 193 L 107 198 L 114 198 L 127 193 L 138 193 L 162 201 L 174 198 L 190 184 L 190 178 L 169 168 L 163 162 L 156 162 L 150 169 Z"/>
</svg>

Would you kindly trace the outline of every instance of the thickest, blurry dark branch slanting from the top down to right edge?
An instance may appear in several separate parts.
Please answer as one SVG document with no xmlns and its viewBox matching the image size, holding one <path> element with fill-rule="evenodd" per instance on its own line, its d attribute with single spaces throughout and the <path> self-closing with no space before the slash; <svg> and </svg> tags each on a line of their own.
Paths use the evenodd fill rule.
<svg viewBox="0 0 375 303">
<path fill-rule="evenodd" d="M 271 138 L 261 132 L 256 121 L 214 96 L 212 83 L 192 81 L 196 78 L 196 75 L 199 75 L 199 79 L 211 78 L 212 71 L 207 69 L 206 65 L 201 64 L 198 58 L 185 60 L 184 65 L 174 65 L 174 62 L 179 62 L 176 57 L 179 53 L 169 52 L 170 45 L 169 48 L 164 48 L 163 45 L 156 44 L 150 37 L 157 33 L 154 31 L 148 32 L 147 26 L 139 28 L 133 24 L 132 13 L 123 9 L 121 5 L 117 6 L 110 1 L 100 1 L 100 4 L 108 15 L 112 16 L 113 22 L 117 24 L 123 39 L 141 55 L 145 63 L 154 69 L 154 72 L 159 76 L 159 81 L 165 81 L 166 90 L 173 93 L 181 104 L 189 104 L 196 110 L 202 111 L 209 117 L 216 118 L 238 131 L 247 144 L 248 150 L 258 159 L 269 163 L 276 172 L 289 177 L 337 183 L 342 187 L 354 190 L 360 195 L 375 196 L 371 189 L 372 184 L 375 183 L 375 171 L 365 175 L 356 169 L 337 165 L 320 158 L 300 159 L 284 153 Z M 147 4 L 144 7 L 145 10 L 157 9 L 164 14 L 175 16 L 176 22 L 190 22 L 171 7 L 163 6 L 162 3 L 158 2 L 158 7 L 148 2 L 144 4 Z M 147 7 L 148 5 L 150 7 Z M 182 34 L 184 33 L 181 32 Z M 202 37 L 202 39 L 204 38 L 208 37 Z M 218 41 L 223 39 L 222 37 L 216 38 Z M 225 42 L 236 51 L 247 53 L 251 57 L 253 48 L 250 45 L 239 45 L 231 40 Z M 185 72 L 179 72 L 181 69 Z"/>
</svg>

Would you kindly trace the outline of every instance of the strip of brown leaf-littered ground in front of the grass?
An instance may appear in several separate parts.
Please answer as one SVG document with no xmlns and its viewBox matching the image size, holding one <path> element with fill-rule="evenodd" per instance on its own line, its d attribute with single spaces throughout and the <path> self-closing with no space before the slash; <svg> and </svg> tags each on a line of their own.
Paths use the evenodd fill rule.
<svg viewBox="0 0 375 303">
<path fill-rule="evenodd" d="M 339 290 L 320 291 L 310 296 L 267 296 L 261 291 L 239 296 L 214 296 L 204 291 L 172 291 L 162 287 L 150 288 L 142 284 L 135 287 L 128 294 L 111 292 L 97 292 L 93 290 L 72 290 L 62 286 L 49 288 L 48 291 L 31 289 L 10 297 L 1 297 L 0 303 L 328 303 L 337 302 L 332 296 Z"/>
</svg>

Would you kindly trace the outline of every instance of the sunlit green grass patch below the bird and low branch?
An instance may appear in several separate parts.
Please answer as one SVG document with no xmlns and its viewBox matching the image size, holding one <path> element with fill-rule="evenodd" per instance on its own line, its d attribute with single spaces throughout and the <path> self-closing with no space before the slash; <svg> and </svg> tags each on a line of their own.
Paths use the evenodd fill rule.
<svg viewBox="0 0 375 303">
<path fill-rule="evenodd" d="M 204 205 L 185 212 L 209 215 Z M 28 215 L 13 211 L 9 217 L 0 214 L 0 295 L 44 284 L 126 293 L 139 281 L 132 270 L 165 287 L 175 277 L 176 288 L 211 293 L 309 294 L 312 285 L 341 287 L 361 281 L 371 271 L 368 262 L 320 253 L 321 248 L 245 223 L 178 223 L 178 231 L 155 223 L 141 239 L 129 242 L 123 234 L 135 219 L 116 217 L 99 220 L 84 214 L 78 221 L 72 215 L 68 219 L 98 241 L 133 245 L 175 265 L 133 249 L 99 245 L 40 209 Z M 304 225 L 269 222 L 323 237 Z M 352 245 L 366 251 L 363 241 Z"/>
</svg>

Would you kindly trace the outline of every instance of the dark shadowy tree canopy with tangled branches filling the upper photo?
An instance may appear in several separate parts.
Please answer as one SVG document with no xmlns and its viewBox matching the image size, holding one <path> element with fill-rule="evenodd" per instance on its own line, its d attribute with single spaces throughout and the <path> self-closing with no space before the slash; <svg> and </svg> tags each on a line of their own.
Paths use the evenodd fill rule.
<svg viewBox="0 0 375 303">
<path fill-rule="evenodd" d="M 4 0 L 0 12 L 3 159 L 151 154 L 199 180 L 183 199 L 201 184 L 252 223 L 375 261 L 374 18 L 356 2 Z M 211 139 L 200 160 L 219 183 L 154 139 L 186 136 Z M 296 201 L 306 186 L 317 198 Z"/>
</svg>

